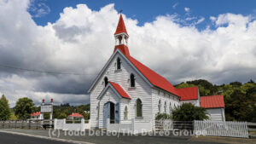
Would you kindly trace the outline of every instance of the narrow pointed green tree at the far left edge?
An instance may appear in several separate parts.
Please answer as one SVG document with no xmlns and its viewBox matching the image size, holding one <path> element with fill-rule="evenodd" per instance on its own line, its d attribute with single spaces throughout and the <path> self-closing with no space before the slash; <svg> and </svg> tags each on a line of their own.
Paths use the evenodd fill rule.
<svg viewBox="0 0 256 144">
<path fill-rule="evenodd" d="M 11 116 L 11 111 L 9 109 L 9 101 L 2 95 L 0 99 L 0 119 L 7 120 Z"/>
</svg>

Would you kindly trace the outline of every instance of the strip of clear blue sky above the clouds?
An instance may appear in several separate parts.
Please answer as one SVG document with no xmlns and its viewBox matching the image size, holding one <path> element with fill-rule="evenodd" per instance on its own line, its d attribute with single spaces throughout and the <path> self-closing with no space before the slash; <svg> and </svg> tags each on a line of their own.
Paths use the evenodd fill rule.
<svg viewBox="0 0 256 144">
<path fill-rule="evenodd" d="M 115 9 L 123 9 L 124 14 L 132 19 L 138 20 L 138 25 L 142 26 L 145 22 L 155 20 L 158 15 L 178 14 L 180 18 L 197 17 L 197 19 L 205 18 L 197 28 L 204 29 L 211 25 L 210 16 L 217 17 L 218 14 L 232 13 L 243 15 L 256 15 L 255 0 L 35 0 L 35 7 L 49 8 L 49 12 L 34 16 L 33 20 L 38 25 L 45 26 L 48 22 L 54 23 L 58 20 L 60 13 L 66 7 L 75 8 L 79 3 L 85 3 L 90 9 L 99 10 L 109 3 L 115 4 Z M 189 8 L 189 12 L 185 11 Z M 35 15 L 37 12 L 32 12 Z"/>
</svg>

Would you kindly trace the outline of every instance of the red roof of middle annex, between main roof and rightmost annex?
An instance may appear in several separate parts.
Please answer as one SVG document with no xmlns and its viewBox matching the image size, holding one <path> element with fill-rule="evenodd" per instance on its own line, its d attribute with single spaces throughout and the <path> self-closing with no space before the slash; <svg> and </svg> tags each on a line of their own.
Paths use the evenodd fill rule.
<svg viewBox="0 0 256 144">
<path fill-rule="evenodd" d="M 184 100 L 197 100 L 198 99 L 198 87 L 181 88 L 177 89 L 178 94 L 181 97 L 181 101 Z"/>
</svg>

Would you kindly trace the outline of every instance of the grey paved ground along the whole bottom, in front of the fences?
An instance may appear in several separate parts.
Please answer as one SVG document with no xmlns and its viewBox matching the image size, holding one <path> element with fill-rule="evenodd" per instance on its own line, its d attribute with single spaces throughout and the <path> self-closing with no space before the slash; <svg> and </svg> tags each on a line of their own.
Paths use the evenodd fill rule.
<svg viewBox="0 0 256 144">
<path fill-rule="evenodd" d="M 24 135 L 12 135 L 0 130 L 0 144 L 67 144 L 67 142 L 61 141 L 49 141 L 41 138 L 34 138 Z M 9 132 L 22 133 L 25 135 L 40 135 L 44 137 L 49 137 L 49 130 L 5 130 Z M 172 136 L 172 137 L 161 137 L 161 136 L 127 136 L 120 135 L 117 136 L 89 136 L 89 135 L 80 135 L 80 136 L 71 136 L 64 135 L 63 131 L 60 131 L 58 138 L 61 138 L 62 141 L 83 141 L 96 144 L 219 144 L 219 143 L 230 143 L 230 144 L 255 144 L 255 139 L 240 139 L 240 138 L 230 138 L 230 137 L 214 137 L 214 136 Z"/>
</svg>

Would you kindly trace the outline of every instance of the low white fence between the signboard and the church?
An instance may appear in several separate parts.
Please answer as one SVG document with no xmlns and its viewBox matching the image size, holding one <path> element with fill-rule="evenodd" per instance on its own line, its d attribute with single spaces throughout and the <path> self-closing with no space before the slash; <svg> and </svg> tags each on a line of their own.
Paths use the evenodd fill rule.
<svg viewBox="0 0 256 144">
<path fill-rule="evenodd" d="M 66 119 L 55 119 L 54 129 L 84 131 L 85 129 L 90 129 L 90 120 L 89 120 L 89 123 L 84 123 L 84 118 L 82 118 L 81 123 L 79 124 L 67 124 Z"/>
</svg>

